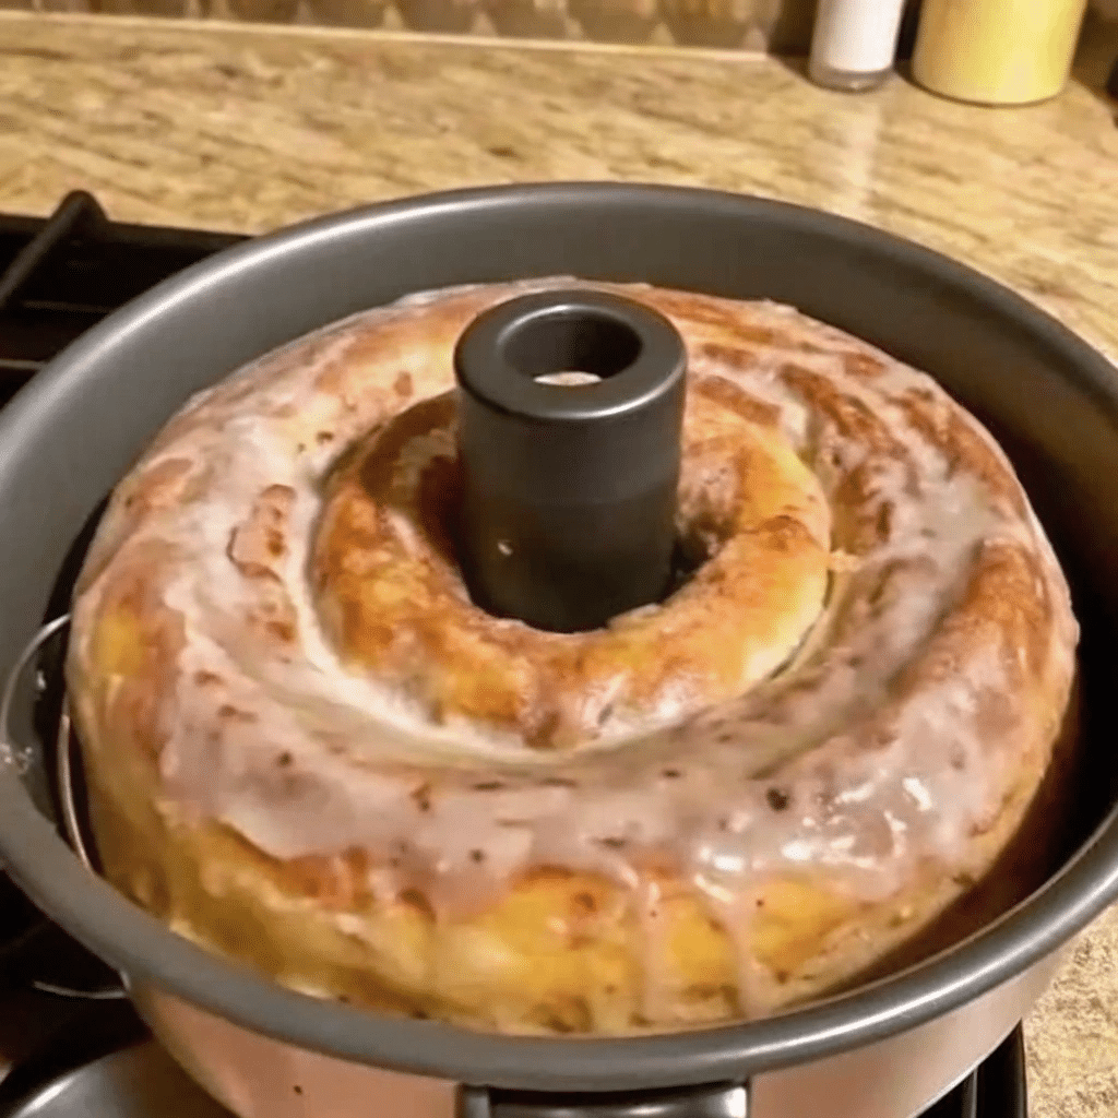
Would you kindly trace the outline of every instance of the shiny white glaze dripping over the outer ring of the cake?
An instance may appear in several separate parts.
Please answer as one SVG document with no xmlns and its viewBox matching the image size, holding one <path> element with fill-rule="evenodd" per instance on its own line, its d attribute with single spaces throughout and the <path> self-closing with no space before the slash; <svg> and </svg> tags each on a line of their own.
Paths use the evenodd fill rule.
<svg viewBox="0 0 1118 1118">
<path fill-rule="evenodd" d="M 650 863 L 669 865 L 737 939 L 774 878 L 823 875 L 875 902 L 929 862 L 945 875 L 980 871 L 974 836 L 1013 793 L 1021 757 L 1046 749 L 1058 729 L 1078 634 L 1067 587 L 988 434 L 930 378 L 789 309 L 743 304 L 752 333 L 728 356 L 724 323 L 680 312 L 689 296 L 616 288 L 674 319 L 692 380 L 722 378 L 776 409 L 830 502 L 831 590 L 817 616 L 804 616 L 805 643 L 785 670 L 714 708 L 680 718 L 665 700 L 645 724 L 541 751 L 506 729 L 434 726 L 421 703 L 332 647 L 307 566 L 340 451 L 453 386 L 454 332 L 440 328 L 432 359 L 425 313 L 454 323 L 461 305 L 464 325 L 484 305 L 556 282 L 411 297 L 196 397 L 117 491 L 79 587 L 69 678 L 87 748 L 113 748 L 112 719 L 86 698 L 97 619 L 114 578 L 142 563 L 182 625 L 153 716 L 152 794 L 174 825 L 220 822 L 281 861 L 369 852 L 373 891 L 418 888 L 435 919 L 484 904 L 536 866 L 604 874 L 651 913 L 650 941 Z M 711 304 L 723 316 L 742 305 Z M 398 352 L 368 348 L 405 320 Z M 362 344 L 380 379 L 359 392 L 359 373 L 334 371 Z M 394 395 L 404 375 L 410 391 Z M 823 385 L 841 411 L 819 406 Z M 927 423 L 965 451 L 936 445 Z M 975 455 L 985 467 L 972 468 Z M 159 506 L 138 515 L 129 494 L 155 476 L 167 479 Z M 260 551 L 247 534 L 238 544 L 274 486 L 282 549 Z M 409 531 L 401 521 L 401 538 Z M 967 610 L 983 563 L 1002 556 L 1027 558 L 1029 608 L 1048 626 L 1031 648 L 999 642 L 996 618 L 980 639 L 953 629 L 988 617 L 989 603 Z M 246 575 L 254 565 L 263 578 Z M 260 628 L 250 614 L 269 588 L 280 597 L 265 603 Z M 277 617 L 293 643 L 265 632 Z M 946 660 L 935 666 L 939 647 Z M 748 949 L 739 967 L 743 1013 L 778 1001 Z M 645 969 L 645 1012 L 657 1020 L 655 966 Z"/>
</svg>

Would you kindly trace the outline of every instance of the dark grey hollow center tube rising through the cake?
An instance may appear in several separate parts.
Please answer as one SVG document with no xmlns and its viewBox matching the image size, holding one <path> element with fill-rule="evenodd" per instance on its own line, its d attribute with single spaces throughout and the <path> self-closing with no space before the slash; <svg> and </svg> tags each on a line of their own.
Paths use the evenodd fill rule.
<svg viewBox="0 0 1118 1118">
<path fill-rule="evenodd" d="M 686 352 L 648 307 L 552 291 L 498 304 L 454 354 L 473 600 L 575 633 L 672 579 Z"/>
</svg>

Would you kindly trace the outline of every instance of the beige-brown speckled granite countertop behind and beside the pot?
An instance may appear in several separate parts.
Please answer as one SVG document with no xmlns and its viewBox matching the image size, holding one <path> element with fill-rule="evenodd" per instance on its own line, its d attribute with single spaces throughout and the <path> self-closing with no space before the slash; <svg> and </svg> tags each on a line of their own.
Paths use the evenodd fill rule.
<svg viewBox="0 0 1118 1118">
<path fill-rule="evenodd" d="M 540 179 L 751 191 L 948 253 L 1118 354 L 1118 127 L 1074 84 L 980 110 L 795 65 L 0 12 L 0 211 L 236 231 Z M 1027 1022 L 1034 1118 L 1118 1115 L 1118 911 Z"/>
</svg>

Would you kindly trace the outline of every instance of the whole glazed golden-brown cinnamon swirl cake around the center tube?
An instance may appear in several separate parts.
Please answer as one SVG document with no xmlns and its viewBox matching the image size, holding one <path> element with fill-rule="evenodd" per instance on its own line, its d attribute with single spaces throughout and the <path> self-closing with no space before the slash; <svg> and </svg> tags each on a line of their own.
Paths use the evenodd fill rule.
<svg viewBox="0 0 1118 1118">
<path fill-rule="evenodd" d="M 1073 683 L 1069 591 L 928 377 L 787 307 L 596 284 L 686 343 L 702 562 L 595 633 L 484 614 L 447 530 L 452 352 L 560 284 L 319 331 L 193 398 L 121 482 L 67 663 L 104 872 L 381 1012 L 769 1014 L 915 944 L 1020 842 Z"/>
</svg>

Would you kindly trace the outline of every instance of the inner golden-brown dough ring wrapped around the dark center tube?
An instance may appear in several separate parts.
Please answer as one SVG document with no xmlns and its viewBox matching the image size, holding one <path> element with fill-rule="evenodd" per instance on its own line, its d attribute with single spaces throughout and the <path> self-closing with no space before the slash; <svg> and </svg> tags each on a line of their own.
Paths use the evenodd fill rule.
<svg viewBox="0 0 1118 1118">
<path fill-rule="evenodd" d="M 400 413 L 329 486 L 311 566 L 334 647 L 438 723 L 466 720 L 538 748 L 624 735 L 740 694 L 818 617 L 830 515 L 776 428 L 732 402 L 702 381 L 688 401 L 679 534 L 691 578 L 660 605 L 569 635 L 470 600 L 455 559 L 454 395 Z"/>
</svg>

